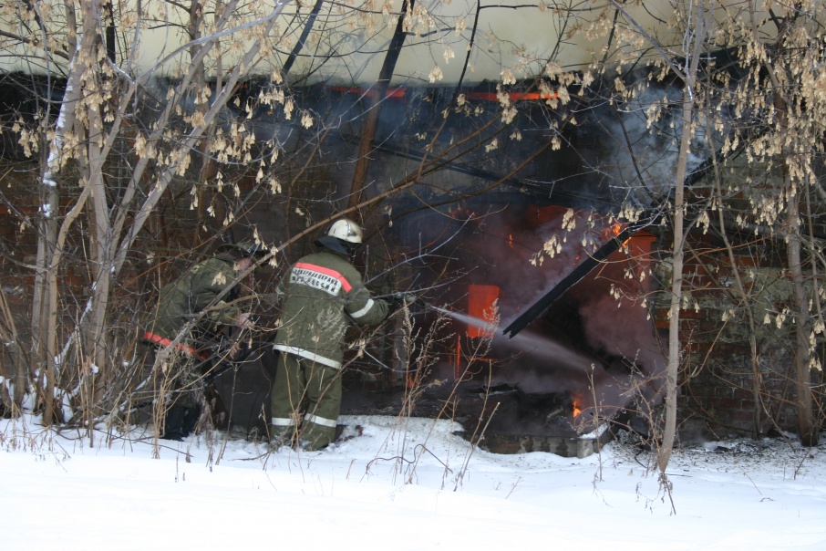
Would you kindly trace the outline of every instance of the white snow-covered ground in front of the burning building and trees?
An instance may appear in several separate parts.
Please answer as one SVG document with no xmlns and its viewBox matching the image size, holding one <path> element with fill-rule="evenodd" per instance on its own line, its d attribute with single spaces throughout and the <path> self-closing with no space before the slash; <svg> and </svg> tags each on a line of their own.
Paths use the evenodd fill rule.
<svg viewBox="0 0 826 551">
<path fill-rule="evenodd" d="M 669 497 L 652 455 L 618 442 L 585 459 L 497 455 L 449 421 L 341 421 L 349 439 L 322 452 L 218 432 L 160 441 L 160 459 L 152 442 L 0 421 L 0 546 L 826 549 L 826 445 L 679 450 Z"/>
</svg>

